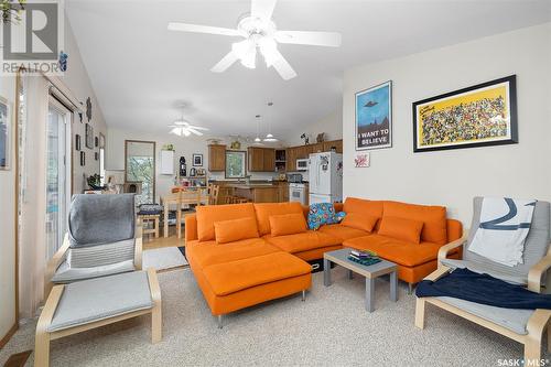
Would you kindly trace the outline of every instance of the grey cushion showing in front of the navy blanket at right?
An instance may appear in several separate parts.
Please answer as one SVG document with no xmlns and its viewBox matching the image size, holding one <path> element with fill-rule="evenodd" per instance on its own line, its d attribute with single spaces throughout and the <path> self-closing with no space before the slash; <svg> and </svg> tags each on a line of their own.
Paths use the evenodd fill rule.
<svg viewBox="0 0 551 367">
<path fill-rule="evenodd" d="M 436 299 L 520 335 L 528 334 L 526 325 L 534 312 L 533 310 L 495 307 L 450 296 L 437 296 Z"/>
</svg>

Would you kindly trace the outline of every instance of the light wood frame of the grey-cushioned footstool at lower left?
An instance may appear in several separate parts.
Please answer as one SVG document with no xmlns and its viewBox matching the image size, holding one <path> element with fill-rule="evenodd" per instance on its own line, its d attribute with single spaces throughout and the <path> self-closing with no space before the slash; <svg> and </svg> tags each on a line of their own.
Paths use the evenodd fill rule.
<svg viewBox="0 0 551 367">
<path fill-rule="evenodd" d="M 151 343 L 155 344 L 162 338 L 162 301 L 161 301 L 161 289 L 159 287 L 159 280 L 156 278 L 156 272 L 154 268 L 148 269 L 148 281 L 151 291 L 151 299 L 153 301 L 153 306 L 151 309 L 138 310 L 112 317 L 101 319 L 83 325 L 76 325 L 73 327 L 64 328 L 56 332 L 48 332 L 47 327 L 52 323 L 55 311 L 63 296 L 63 291 L 65 289 L 64 284 L 54 285 L 50 296 L 47 298 L 46 304 L 42 310 L 39 322 L 36 324 L 36 335 L 35 335 L 35 347 L 34 347 L 34 366 L 35 367 L 47 367 L 50 365 L 50 342 L 58 339 L 64 336 L 82 333 L 96 327 L 101 327 L 108 324 L 114 324 L 116 322 L 141 316 L 144 314 L 151 314 Z"/>
</svg>

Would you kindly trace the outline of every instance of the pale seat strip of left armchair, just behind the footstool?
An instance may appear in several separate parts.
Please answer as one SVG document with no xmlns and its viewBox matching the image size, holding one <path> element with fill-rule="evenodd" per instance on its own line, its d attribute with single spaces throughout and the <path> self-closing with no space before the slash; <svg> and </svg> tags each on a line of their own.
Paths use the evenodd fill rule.
<svg viewBox="0 0 551 367">
<path fill-rule="evenodd" d="M 52 277 L 52 282 L 56 284 L 63 284 L 85 279 L 120 274 L 134 270 L 136 268 L 133 260 L 127 260 L 94 268 L 71 268 L 67 261 L 63 261 L 55 271 L 54 277 Z"/>
</svg>

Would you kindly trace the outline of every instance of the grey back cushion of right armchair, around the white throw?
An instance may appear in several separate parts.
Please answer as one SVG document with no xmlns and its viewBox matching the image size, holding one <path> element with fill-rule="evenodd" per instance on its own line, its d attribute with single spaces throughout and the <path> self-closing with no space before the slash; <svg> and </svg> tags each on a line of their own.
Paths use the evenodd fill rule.
<svg viewBox="0 0 551 367">
<path fill-rule="evenodd" d="M 550 241 L 550 207 L 551 204 L 548 202 L 538 201 L 533 209 L 532 224 L 530 226 L 530 231 L 525 241 L 525 253 L 522 256 L 523 263 L 516 265 L 515 267 L 507 267 L 501 263 L 491 261 L 483 256 L 475 252 L 468 251 L 468 247 L 473 241 L 476 229 L 480 225 L 480 209 L 482 209 L 483 197 L 475 197 L 473 199 L 473 222 L 471 225 L 471 231 L 468 234 L 468 242 L 466 246 L 466 251 L 464 251 L 463 258 L 467 262 L 473 262 L 479 267 L 487 269 L 491 273 L 503 273 L 507 278 L 523 278 L 528 277 L 528 271 L 538 261 L 540 261 L 543 256 L 545 256 Z M 506 280 L 506 279 L 504 279 Z"/>
</svg>

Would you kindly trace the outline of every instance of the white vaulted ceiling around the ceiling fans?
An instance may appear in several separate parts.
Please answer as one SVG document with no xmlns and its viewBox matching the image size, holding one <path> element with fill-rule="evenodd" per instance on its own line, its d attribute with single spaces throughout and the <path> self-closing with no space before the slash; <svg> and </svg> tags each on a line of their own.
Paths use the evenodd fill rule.
<svg viewBox="0 0 551 367">
<path fill-rule="evenodd" d="M 185 101 L 186 118 L 212 136 L 255 136 L 260 114 L 262 123 L 285 137 L 341 107 L 348 67 L 551 20 L 547 0 L 280 0 L 273 12 L 278 29 L 343 34 L 339 48 L 281 44 L 299 74 L 288 82 L 261 62 L 256 69 L 236 63 L 212 73 L 233 39 L 166 30 L 169 21 L 235 28 L 249 8 L 249 1 L 67 0 L 107 123 L 168 131 Z"/>
</svg>

